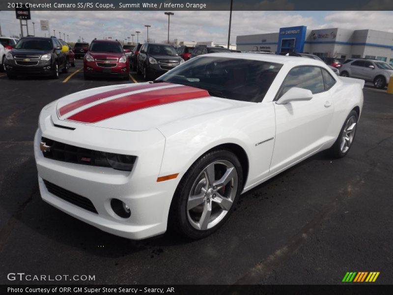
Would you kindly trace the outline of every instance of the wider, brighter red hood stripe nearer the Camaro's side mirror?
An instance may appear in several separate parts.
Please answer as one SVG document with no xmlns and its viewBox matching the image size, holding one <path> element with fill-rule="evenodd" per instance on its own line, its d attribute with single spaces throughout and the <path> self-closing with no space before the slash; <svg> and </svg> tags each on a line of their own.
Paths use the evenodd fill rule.
<svg viewBox="0 0 393 295">
<path fill-rule="evenodd" d="M 146 91 L 116 98 L 92 106 L 72 115 L 67 120 L 96 123 L 129 112 L 138 111 L 172 102 L 184 101 L 209 96 L 209 92 L 190 86 L 180 86 Z"/>
</svg>

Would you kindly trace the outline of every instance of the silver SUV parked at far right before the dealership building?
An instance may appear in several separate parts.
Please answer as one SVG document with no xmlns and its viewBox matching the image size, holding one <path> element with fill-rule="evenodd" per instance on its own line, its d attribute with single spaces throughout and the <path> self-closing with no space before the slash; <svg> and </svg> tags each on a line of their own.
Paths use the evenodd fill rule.
<svg viewBox="0 0 393 295">
<path fill-rule="evenodd" d="M 342 65 L 340 76 L 363 79 L 381 89 L 389 84 L 390 77 L 393 76 L 393 67 L 380 60 L 353 59 Z"/>
</svg>

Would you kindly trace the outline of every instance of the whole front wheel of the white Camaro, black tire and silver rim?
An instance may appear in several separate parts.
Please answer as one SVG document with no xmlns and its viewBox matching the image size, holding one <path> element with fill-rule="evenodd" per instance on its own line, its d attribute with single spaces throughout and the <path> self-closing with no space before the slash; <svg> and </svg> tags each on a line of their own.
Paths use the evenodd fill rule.
<svg viewBox="0 0 393 295">
<path fill-rule="evenodd" d="M 242 188 L 242 166 L 233 152 L 216 149 L 205 153 L 176 188 L 169 228 L 191 239 L 211 235 L 233 211 Z"/>
</svg>

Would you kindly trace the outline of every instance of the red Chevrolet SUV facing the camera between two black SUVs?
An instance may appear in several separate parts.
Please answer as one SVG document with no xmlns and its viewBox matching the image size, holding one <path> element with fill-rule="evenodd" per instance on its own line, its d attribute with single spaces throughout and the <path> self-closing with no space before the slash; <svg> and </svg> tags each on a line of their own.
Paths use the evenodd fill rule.
<svg viewBox="0 0 393 295">
<path fill-rule="evenodd" d="M 94 39 L 84 56 L 84 79 L 121 77 L 128 80 L 130 61 L 119 41 Z"/>
</svg>

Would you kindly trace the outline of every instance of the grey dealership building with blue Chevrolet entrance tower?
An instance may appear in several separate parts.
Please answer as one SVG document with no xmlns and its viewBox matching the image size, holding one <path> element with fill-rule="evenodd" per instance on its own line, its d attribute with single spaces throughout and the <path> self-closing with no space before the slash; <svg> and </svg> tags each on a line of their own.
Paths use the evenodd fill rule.
<svg viewBox="0 0 393 295">
<path fill-rule="evenodd" d="M 304 52 L 338 59 L 378 59 L 393 64 L 393 33 L 373 29 L 281 28 L 277 33 L 236 38 L 241 51 Z"/>
</svg>

